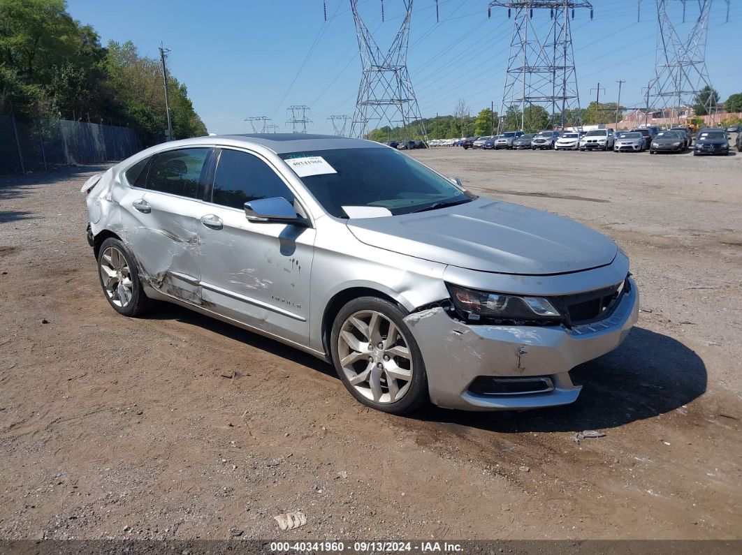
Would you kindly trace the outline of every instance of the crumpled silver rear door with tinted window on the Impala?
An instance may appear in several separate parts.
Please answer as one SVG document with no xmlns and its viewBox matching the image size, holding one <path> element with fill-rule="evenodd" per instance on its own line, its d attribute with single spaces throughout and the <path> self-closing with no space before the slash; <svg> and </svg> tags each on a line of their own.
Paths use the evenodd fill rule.
<svg viewBox="0 0 742 555">
<path fill-rule="evenodd" d="M 146 227 L 135 255 L 142 277 L 161 293 L 201 305 L 197 222 L 213 149 L 166 150 L 152 160 L 146 192 L 133 203 Z"/>
</svg>

